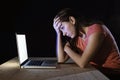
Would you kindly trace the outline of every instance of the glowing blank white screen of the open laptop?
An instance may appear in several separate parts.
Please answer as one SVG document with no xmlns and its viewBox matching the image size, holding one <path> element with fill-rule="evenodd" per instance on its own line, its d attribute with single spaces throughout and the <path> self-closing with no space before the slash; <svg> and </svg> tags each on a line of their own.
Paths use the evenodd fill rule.
<svg viewBox="0 0 120 80">
<path fill-rule="evenodd" d="M 26 59 L 28 59 L 25 34 L 16 34 L 16 40 L 17 40 L 19 62 L 20 64 L 22 64 Z"/>
</svg>

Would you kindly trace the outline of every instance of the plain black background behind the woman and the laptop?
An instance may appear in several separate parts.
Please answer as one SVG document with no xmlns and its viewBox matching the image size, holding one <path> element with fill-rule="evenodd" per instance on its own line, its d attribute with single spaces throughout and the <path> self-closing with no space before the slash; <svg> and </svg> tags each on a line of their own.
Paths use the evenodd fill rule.
<svg viewBox="0 0 120 80">
<path fill-rule="evenodd" d="M 1 2 L 0 64 L 17 56 L 15 33 L 27 36 L 29 56 L 56 56 L 56 13 L 65 7 L 101 19 L 120 48 L 119 0 L 10 0 Z"/>
</svg>

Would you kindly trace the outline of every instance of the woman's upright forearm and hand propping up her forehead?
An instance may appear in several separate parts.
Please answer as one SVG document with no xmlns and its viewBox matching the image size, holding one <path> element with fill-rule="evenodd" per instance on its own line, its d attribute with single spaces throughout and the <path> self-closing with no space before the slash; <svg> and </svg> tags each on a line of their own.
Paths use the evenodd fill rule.
<svg viewBox="0 0 120 80">
<path fill-rule="evenodd" d="M 68 59 L 68 55 L 64 52 L 64 47 L 63 47 L 63 42 L 62 42 L 62 32 L 60 31 L 61 22 L 60 22 L 59 18 L 54 19 L 53 27 L 57 33 L 57 40 L 56 40 L 57 51 L 56 51 L 56 53 L 57 53 L 57 57 L 58 57 L 58 62 L 64 63 Z"/>
</svg>

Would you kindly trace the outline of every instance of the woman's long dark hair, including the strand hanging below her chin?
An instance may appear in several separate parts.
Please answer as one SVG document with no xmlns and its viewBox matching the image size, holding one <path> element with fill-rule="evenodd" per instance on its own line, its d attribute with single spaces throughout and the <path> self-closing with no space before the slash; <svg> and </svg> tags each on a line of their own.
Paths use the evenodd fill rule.
<svg viewBox="0 0 120 80">
<path fill-rule="evenodd" d="M 79 15 L 79 13 L 77 13 L 75 10 L 73 10 L 71 8 L 64 8 L 61 11 L 59 11 L 58 14 L 55 16 L 55 19 L 59 18 L 59 20 L 61 22 L 69 22 L 70 16 L 73 16 L 76 20 L 75 29 L 76 29 L 77 35 L 73 39 L 70 39 L 70 38 L 66 38 L 66 39 L 67 39 L 67 41 L 69 41 L 72 49 L 74 49 L 77 52 L 80 52 L 80 51 L 78 51 L 79 49 L 77 49 L 77 47 L 76 47 L 76 40 L 78 39 L 80 28 L 87 27 L 92 24 L 103 24 L 103 22 L 100 20 L 97 20 L 95 18 L 93 19 L 88 16 L 86 17 L 83 15 Z"/>
</svg>

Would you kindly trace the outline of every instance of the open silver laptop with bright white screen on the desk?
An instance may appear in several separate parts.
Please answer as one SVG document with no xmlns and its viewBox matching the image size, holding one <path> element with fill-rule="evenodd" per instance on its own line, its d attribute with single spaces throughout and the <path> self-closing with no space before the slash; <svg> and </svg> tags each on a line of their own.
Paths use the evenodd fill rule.
<svg viewBox="0 0 120 80">
<path fill-rule="evenodd" d="M 16 33 L 16 44 L 20 68 L 56 68 L 56 58 L 28 57 L 26 35 Z"/>
</svg>

